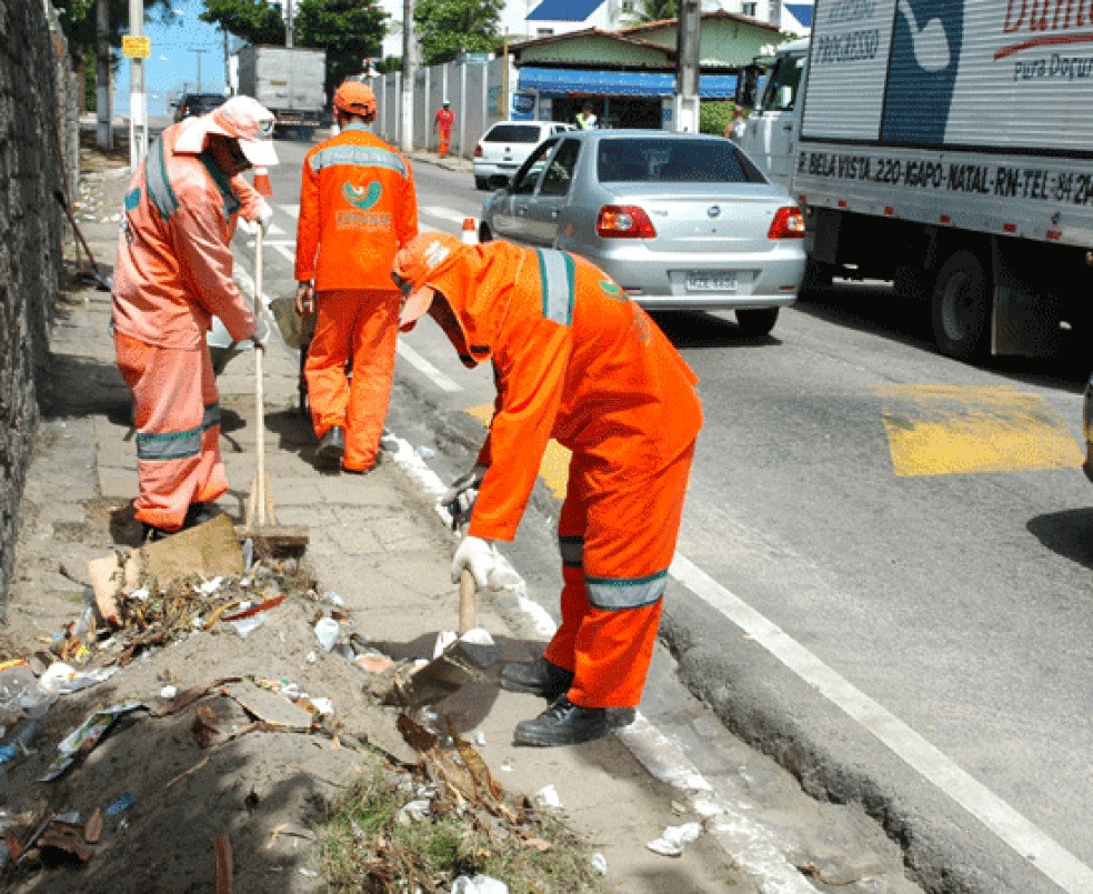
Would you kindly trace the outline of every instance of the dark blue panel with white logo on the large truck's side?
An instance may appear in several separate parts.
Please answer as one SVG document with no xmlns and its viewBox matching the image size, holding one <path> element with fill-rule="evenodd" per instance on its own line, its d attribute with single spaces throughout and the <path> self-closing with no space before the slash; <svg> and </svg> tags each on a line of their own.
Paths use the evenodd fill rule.
<svg viewBox="0 0 1093 894">
<path fill-rule="evenodd" d="M 964 3 L 899 0 L 881 141 L 941 145 L 964 39 Z"/>
</svg>

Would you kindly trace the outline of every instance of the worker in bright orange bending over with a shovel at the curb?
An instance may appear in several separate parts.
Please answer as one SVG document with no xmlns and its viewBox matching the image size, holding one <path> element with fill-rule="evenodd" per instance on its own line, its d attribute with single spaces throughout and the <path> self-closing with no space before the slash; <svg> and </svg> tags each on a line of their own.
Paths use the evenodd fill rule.
<svg viewBox="0 0 1093 894">
<path fill-rule="evenodd" d="M 463 363 L 491 360 L 498 398 L 475 471 L 444 500 L 469 510 L 452 562 L 487 586 L 514 539 L 551 438 L 572 451 L 558 523 L 562 623 L 507 689 L 551 700 L 515 742 L 598 739 L 641 700 L 702 409 L 698 379 L 593 264 L 508 242 L 423 233 L 395 258 L 404 330 L 428 313 Z M 473 491 L 477 489 L 477 496 Z"/>
</svg>

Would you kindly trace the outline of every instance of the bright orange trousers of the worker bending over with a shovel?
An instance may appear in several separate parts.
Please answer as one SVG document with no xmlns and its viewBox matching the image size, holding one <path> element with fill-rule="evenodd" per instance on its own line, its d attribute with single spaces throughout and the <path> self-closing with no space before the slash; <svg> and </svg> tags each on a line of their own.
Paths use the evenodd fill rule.
<svg viewBox="0 0 1093 894">
<path fill-rule="evenodd" d="M 574 673 L 569 697 L 584 707 L 634 707 L 656 644 L 668 567 L 675 553 L 694 445 L 641 480 L 594 480 L 570 462 L 558 522 L 562 623 L 545 657 Z"/>
</svg>

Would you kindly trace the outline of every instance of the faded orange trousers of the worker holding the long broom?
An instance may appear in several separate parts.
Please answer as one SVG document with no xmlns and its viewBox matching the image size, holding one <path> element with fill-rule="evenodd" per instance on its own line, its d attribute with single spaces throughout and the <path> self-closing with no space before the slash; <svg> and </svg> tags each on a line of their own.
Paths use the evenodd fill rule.
<svg viewBox="0 0 1093 894">
<path fill-rule="evenodd" d="M 177 531 L 192 503 L 211 503 L 228 491 L 209 349 L 158 348 L 119 332 L 114 350 L 133 392 L 137 519 Z"/>
</svg>

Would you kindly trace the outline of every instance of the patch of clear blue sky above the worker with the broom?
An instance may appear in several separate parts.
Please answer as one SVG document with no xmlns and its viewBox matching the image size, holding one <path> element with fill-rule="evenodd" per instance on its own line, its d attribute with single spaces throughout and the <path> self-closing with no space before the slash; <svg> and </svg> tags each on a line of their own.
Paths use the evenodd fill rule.
<svg viewBox="0 0 1093 894">
<path fill-rule="evenodd" d="M 158 12 L 144 22 L 144 37 L 151 42 L 151 56 L 144 60 L 149 115 L 170 114 L 168 103 L 182 92 L 183 84 L 190 92 L 198 92 L 199 59 L 200 92 L 224 90 L 223 32 L 198 19 L 204 11 L 204 0 L 171 0 L 171 8 L 170 23 L 161 24 Z M 230 40 L 234 50 L 239 41 Z M 129 114 L 129 60 L 123 59 L 114 76 L 114 114 Z"/>
</svg>

